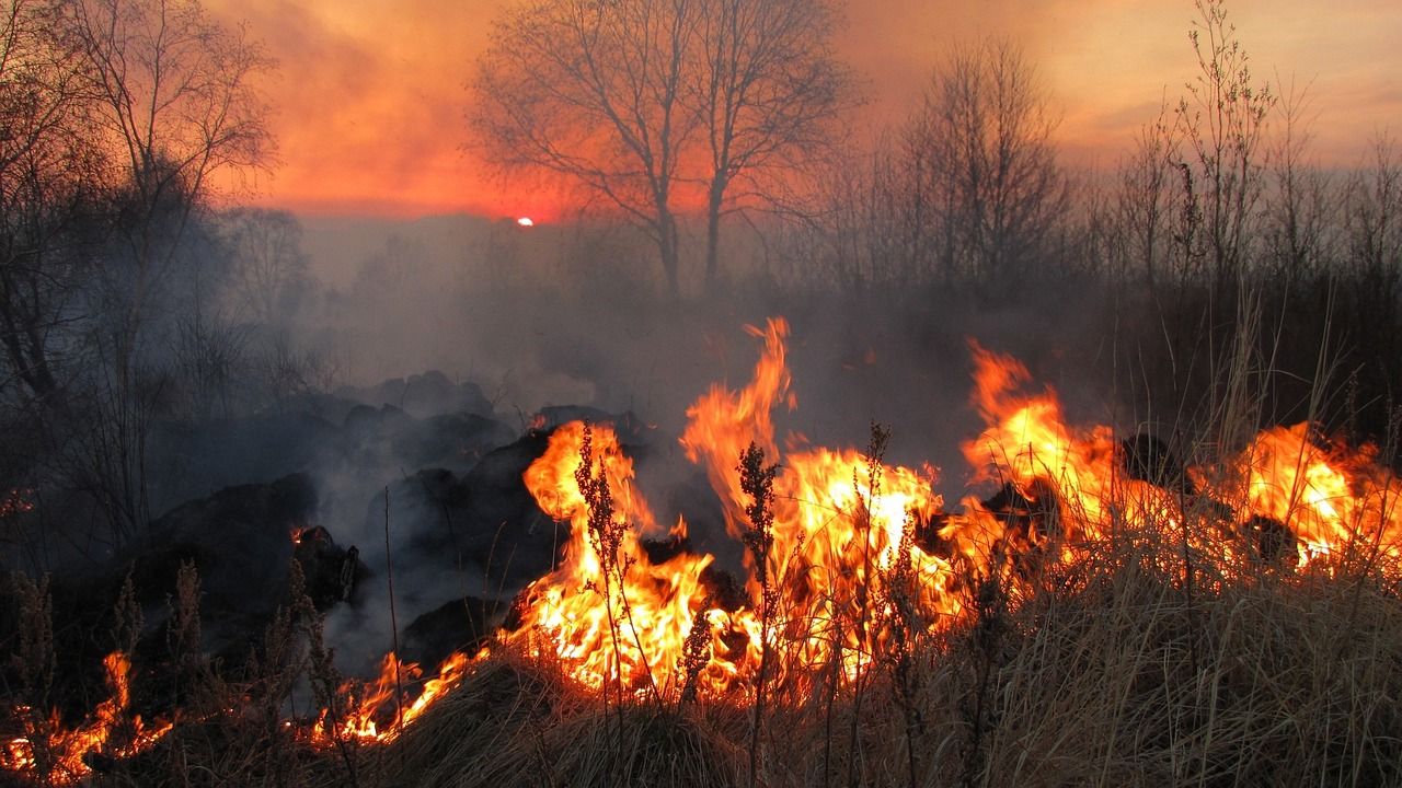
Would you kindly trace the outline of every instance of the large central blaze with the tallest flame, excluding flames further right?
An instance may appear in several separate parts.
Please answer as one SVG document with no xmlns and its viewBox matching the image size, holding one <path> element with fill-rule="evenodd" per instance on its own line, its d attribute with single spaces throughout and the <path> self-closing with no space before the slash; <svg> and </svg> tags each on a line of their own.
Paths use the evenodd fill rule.
<svg viewBox="0 0 1402 788">
<path fill-rule="evenodd" d="M 705 464 L 736 538 L 751 503 L 736 460 L 753 443 L 777 461 L 770 412 L 780 402 L 795 405 L 784 363 L 788 325 L 771 320 L 750 332 L 764 342 L 754 380 L 740 391 L 716 386 L 701 397 L 687 411 L 691 421 L 681 437 L 687 456 Z M 611 509 L 603 530 L 617 534 L 611 543 L 600 538 L 599 508 L 582 492 L 590 480 L 607 482 Z M 512 639 L 558 658 L 586 686 L 677 690 L 687 681 L 681 666 L 698 623 L 709 630 L 700 649 L 709 656 L 691 680 L 708 694 L 723 695 L 751 680 L 765 648 L 777 642 L 794 644 L 778 660 L 781 681 L 834 659 L 855 676 L 889 637 L 883 621 L 892 617 L 897 568 L 918 578 L 914 596 L 931 624 L 959 609 L 946 593 L 949 564 L 914 541 L 917 524 L 941 508 L 932 473 L 886 467 L 854 450 L 788 457 L 774 480 L 773 540 L 764 558 L 770 595 L 751 557 L 750 603 L 733 611 L 708 602 L 702 576 L 712 557 L 680 554 L 658 565 L 648 559 L 641 540 L 660 536 L 660 529 L 632 481 L 632 461 L 613 429 L 579 422 L 558 429 L 545 456 L 526 471 L 540 506 L 568 520 L 572 536 L 561 566 L 529 589 L 523 625 Z M 673 531 L 684 533 L 684 523 Z M 765 604 L 775 607 L 768 624 Z M 847 627 L 854 606 L 871 616 Z"/>
</svg>

